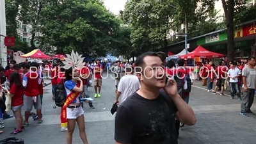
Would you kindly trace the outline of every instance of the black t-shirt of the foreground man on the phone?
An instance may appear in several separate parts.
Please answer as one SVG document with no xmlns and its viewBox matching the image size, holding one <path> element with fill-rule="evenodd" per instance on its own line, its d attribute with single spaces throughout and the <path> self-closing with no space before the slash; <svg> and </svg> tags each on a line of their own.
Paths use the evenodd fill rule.
<svg viewBox="0 0 256 144">
<path fill-rule="evenodd" d="M 115 140 L 132 144 L 170 144 L 175 138 L 172 113 L 176 112 L 172 99 L 166 100 L 163 95 L 148 100 L 133 93 L 116 112 Z"/>
</svg>

